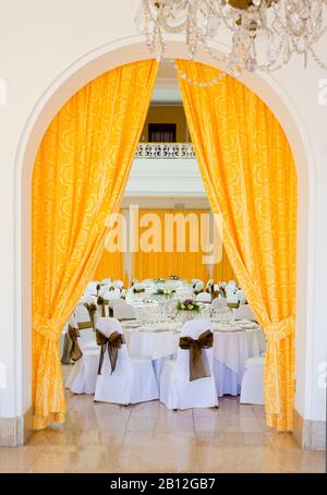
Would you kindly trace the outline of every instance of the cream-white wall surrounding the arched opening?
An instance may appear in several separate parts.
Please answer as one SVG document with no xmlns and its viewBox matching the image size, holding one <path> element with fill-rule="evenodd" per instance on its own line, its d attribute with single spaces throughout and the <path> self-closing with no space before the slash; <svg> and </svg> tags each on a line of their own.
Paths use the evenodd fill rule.
<svg viewBox="0 0 327 495">
<path fill-rule="evenodd" d="M 33 160 L 45 122 L 83 81 L 105 70 L 105 60 L 110 69 L 135 56 L 147 56 L 144 45 L 137 45 L 140 37 L 133 23 L 138 3 L 138 0 L 0 0 L 0 79 L 8 90 L 8 102 L 0 106 L 0 361 L 8 371 L 8 387 L 0 389 L 0 416 L 20 415 L 31 403 L 27 239 L 31 167 L 23 168 L 23 164 Z M 184 48 L 173 43 L 180 39 L 169 37 L 168 56 L 185 56 Z M 215 47 L 223 50 L 223 43 L 217 41 Z M 319 52 L 327 60 L 326 39 Z M 326 73 L 312 63 L 307 71 L 292 63 L 272 76 L 243 79 L 277 114 L 296 158 L 301 198 L 296 409 L 314 420 L 325 416 L 317 369 L 326 361 L 327 349 L 327 106 L 317 104 L 317 85 Z M 69 82 L 64 85 L 65 80 Z M 50 105 L 45 107 L 49 99 Z M 43 108 L 43 119 L 37 120 Z M 26 147 L 32 130 L 34 143 Z M 24 293 L 20 292 L 22 278 Z"/>
</svg>

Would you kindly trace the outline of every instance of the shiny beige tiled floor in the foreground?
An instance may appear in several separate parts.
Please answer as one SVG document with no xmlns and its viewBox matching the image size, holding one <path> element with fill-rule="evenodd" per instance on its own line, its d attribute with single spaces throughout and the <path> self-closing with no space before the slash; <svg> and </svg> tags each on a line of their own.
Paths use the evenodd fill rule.
<svg viewBox="0 0 327 495">
<path fill-rule="evenodd" d="M 129 408 L 68 393 L 61 428 L 0 448 L 0 472 L 323 472 L 324 454 L 303 451 L 265 426 L 262 407 L 223 398 L 219 409 Z"/>
</svg>

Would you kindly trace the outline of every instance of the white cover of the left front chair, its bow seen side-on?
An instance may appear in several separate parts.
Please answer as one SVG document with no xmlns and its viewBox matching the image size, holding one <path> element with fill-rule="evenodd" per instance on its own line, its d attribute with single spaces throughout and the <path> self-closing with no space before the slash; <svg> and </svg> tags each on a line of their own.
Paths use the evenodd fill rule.
<svg viewBox="0 0 327 495">
<path fill-rule="evenodd" d="M 99 318 L 98 330 L 107 338 L 113 331 L 123 335 L 122 327 L 116 318 Z M 106 351 L 101 374 L 97 376 L 95 401 L 121 405 L 143 402 L 158 398 L 158 384 L 149 359 L 130 359 L 126 345 L 118 349 L 116 370 Z"/>
</svg>

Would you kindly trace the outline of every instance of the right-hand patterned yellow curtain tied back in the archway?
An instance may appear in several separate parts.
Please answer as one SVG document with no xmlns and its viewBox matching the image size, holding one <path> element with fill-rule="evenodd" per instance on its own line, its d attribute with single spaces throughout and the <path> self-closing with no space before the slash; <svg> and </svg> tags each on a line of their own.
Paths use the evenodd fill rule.
<svg viewBox="0 0 327 495">
<path fill-rule="evenodd" d="M 177 61 L 193 81 L 219 71 Z M 239 283 L 267 337 L 265 406 L 269 426 L 292 428 L 296 275 L 296 172 L 284 133 L 250 89 L 226 76 L 214 86 L 180 74 L 196 157 Z"/>
</svg>

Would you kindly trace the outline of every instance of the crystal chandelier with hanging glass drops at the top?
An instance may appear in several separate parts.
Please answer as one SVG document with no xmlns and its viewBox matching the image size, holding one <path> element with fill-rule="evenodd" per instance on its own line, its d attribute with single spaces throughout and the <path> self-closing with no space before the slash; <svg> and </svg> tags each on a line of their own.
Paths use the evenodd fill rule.
<svg viewBox="0 0 327 495">
<path fill-rule="evenodd" d="M 166 51 L 165 33 L 184 33 L 191 59 L 202 46 L 234 76 L 280 69 L 293 53 L 304 67 L 312 56 L 327 70 L 314 51 L 326 32 L 326 5 L 327 0 L 142 0 L 135 22 L 158 58 Z M 232 48 L 219 59 L 209 41 L 220 33 Z"/>
</svg>

